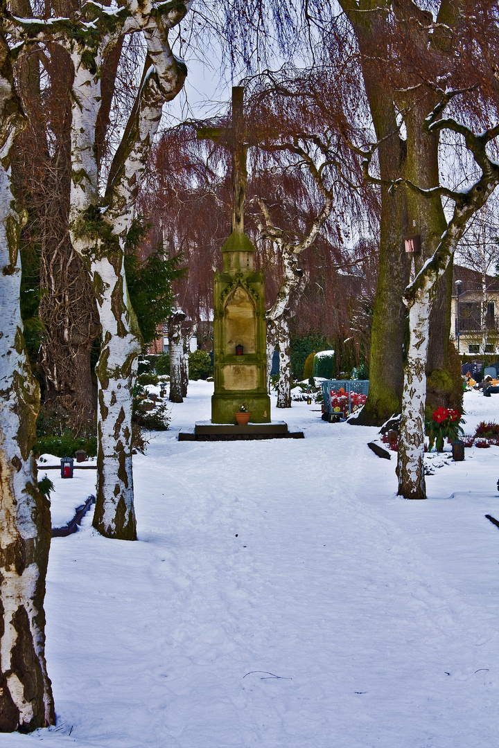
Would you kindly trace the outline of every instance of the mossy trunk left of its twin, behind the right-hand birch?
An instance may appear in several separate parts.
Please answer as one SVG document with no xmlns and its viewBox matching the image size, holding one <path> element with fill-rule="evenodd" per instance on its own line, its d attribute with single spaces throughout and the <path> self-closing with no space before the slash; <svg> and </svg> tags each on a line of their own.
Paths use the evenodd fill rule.
<svg viewBox="0 0 499 748">
<path fill-rule="evenodd" d="M 380 143 L 379 168 L 382 180 L 396 180 L 405 171 L 405 143 L 397 130 L 394 90 L 389 76 L 380 70 L 386 58 L 385 10 L 372 7 L 370 13 L 356 12 L 350 0 L 340 0 L 354 28 L 361 51 L 364 86 Z M 374 4 L 376 6 L 376 4 Z M 355 8 L 356 8 L 355 4 Z M 370 385 L 367 402 L 349 423 L 380 426 L 399 413 L 403 386 L 403 343 L 405 306 L 402 301 L 409 281 L 410 264 L 403 236 L 407 227 L 404 191 L 394 194 L 383 186 L 379 239 L 379 276 L 373 307 L 370 349 Z"/>
</svg>

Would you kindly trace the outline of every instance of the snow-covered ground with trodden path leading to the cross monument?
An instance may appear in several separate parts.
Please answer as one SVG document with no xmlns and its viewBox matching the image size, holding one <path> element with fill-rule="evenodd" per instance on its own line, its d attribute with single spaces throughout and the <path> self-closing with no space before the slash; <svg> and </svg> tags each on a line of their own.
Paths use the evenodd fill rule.
<svg viewBox="0 0 499 748">
<path fill-rule="evenodd" d="M 317 405 L 273 413 L 304 440 L 177 441 L 209 419 L 211 388 L 189 384 L 135 459 L 138 542 L 90 515 L 53 540 L 58 724 L 1 748 L 497 745 L 499 447 L 445 461 L 408 502 L 395 456 L 366 446 L 377 430 Z M 465 409 L 473 432 L 499 396 Z M 79 475 L 76 503 L 94 479 Z"/>
</svg>

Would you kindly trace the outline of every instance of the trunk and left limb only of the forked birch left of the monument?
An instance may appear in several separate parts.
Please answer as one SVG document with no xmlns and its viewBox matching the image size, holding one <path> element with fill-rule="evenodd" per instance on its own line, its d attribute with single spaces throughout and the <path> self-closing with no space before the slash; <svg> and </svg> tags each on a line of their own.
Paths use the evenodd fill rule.
<svg viewBox="0 0 499 748">
<path fill-rule="evenodd" d="M 123 242 L 97 209 L 98 166 L 95 129 L 100 105 L 100 56 L 97 73 L 72 52 L 75 78 L 71 123 L 72 185 L 70 232 L 73 246 L 88 263 L 100 319 L 101 350 L 96 367 L 97 504 L 94 527 L 110 538 L 135 540 L 132 479 L 132 387 L 140 331 L 129 304 L 123 266 Z"/>
</svg>

